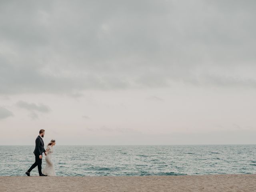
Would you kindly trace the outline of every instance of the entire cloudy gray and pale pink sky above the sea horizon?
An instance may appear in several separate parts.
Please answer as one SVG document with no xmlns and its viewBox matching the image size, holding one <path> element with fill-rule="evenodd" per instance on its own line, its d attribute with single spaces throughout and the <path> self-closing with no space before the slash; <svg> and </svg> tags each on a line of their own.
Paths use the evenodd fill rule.
<svg viewBox="0 0 256 192">
<path fill-rule="evenodd" d="M 0 145 L 256 144 L 255 1 L 0 1 Z"/>
</svg>

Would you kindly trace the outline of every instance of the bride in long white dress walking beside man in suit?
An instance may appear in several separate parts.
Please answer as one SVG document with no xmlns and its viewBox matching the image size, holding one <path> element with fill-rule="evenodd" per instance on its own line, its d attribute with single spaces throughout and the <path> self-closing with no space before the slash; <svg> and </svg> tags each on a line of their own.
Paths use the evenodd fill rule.
<svg viewBox="0 0 256 192">
<path fill-rule="evenodd" d="M 46 152 L 47 155 L 45 156 L 46 166 L 42 170 L 42 173 L 48 176 L 56 176 L 54 164 L 52 162 L 52 153 L 53 153 L 53 146 L 56 144 L 55 140 L 51 140 L 48 143 Z"/>
</svg>

